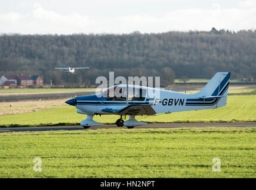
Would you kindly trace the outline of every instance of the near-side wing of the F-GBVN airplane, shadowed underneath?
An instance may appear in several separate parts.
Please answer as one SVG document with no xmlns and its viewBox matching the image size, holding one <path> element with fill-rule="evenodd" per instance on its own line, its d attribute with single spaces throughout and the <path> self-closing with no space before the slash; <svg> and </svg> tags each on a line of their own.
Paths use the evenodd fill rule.
<svg viewBox="0 0 256 190">
<path fill-rule="evenodd" d="M 149 105 L 129 105 L 123 109 L 104 108 L 103 112 L 116 115 L 155 115 L 155 110 Z"/>
</svg>

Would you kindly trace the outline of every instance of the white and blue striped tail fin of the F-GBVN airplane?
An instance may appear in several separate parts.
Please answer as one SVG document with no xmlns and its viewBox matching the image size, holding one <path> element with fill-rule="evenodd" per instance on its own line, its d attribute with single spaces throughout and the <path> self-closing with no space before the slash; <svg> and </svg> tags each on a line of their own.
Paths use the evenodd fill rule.
<svg viewBox="0 0 256 190">
<path fill-rule="evenodd" d="M 202 99 L 219 99 L 217 107 L 226 106 L 229 80 L 230 72 L 217 72 L 196 95 L 200 96 Z"/>
</svg>

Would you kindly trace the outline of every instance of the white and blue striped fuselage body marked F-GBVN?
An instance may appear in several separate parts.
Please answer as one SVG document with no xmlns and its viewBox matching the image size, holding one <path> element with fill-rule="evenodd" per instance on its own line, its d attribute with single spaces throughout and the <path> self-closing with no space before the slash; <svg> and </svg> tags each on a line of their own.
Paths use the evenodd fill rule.
<svg viewBox="0 0 256 190">
<path fill-rule="evenodd" d="M 228 85 L 226 86 L 225 91 L 223 91 L 223 94 L 226 93 L 227 88 Z M 197 94 L 184 94 L 158 89 L 156 89 L 156 91 L 159 91 L 159 97 L 146 97 L 143 101 L 129 101 L 128 99 L 125 101 L 109 101 L 104 97 L 98 98 L 97 95 L 77 97 L 76 108 L 81 110 L 81 113 L 84 112 L 85 114 L 113 114 L 110 112 L 104 112 L 103 109 L 111 108 L 113 110 L 122 110 L 129 105 L 149 105 L 153 110 L 155 110 L 155 113 L 152 114 L 155 115 L 156 113 L 212 109 L 217 107 L 217 104 L 220 103 L 219 101 L 222 101 L 220 98 L 207 100 L 199 99 Z M 122 115 L 122 113 L 115 114 Z"/>
</svg>

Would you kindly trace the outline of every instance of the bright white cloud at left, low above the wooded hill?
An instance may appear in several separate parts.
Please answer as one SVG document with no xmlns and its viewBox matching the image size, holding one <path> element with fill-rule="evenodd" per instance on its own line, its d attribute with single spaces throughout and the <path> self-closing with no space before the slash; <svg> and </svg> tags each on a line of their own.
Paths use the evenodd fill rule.
<svg viewBox="0 0 256 190">
<path fill-rule="evenodd" d="M 0 32 L 6 33 L 87 33 L 88 26 L 94 23 L 86 15 L 58 14 L 48 11 L 39 4 L 34 5 L 34 9 L 29 14 L 21 15 L 18 12 L 11 12 L 0 15 Z"/>
</svg>

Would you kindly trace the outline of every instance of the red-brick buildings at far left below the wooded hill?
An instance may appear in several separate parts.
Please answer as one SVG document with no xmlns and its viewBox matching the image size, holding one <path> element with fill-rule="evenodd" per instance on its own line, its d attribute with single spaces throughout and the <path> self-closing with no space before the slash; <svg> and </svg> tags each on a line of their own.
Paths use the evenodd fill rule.
<svg viewBox="0 0 256 190">
<path fill-rule="evenodd" d="M 0 85 L 15 86 L 15 85 L 44 85 L 42 77 L 39 75 L 3 75 L 0 78 Z"/>
</svg>

